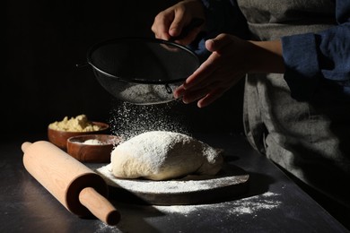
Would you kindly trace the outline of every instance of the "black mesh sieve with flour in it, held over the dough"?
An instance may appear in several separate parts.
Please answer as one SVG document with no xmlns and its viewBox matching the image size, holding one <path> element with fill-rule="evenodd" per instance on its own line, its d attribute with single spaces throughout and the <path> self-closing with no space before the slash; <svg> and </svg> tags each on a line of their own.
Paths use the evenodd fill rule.
<svg viewBox="0 0 350 233">
<path fill-rule="evenodd" d="M 118 38 L 93 45 L 87 53 L 98 82 L 123 101 L 160 104 L 199 66 L 187 47 L 162 39 Z"/>
</svg>

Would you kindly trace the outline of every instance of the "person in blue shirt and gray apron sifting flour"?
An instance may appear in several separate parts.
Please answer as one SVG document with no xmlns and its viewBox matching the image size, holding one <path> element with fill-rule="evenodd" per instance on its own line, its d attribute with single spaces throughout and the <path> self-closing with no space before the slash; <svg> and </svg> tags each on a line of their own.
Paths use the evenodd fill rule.
<svg viewBox="0 0 350 233">
<path fill-rule="evenodd" d="M 177 42 L 193 47 L 206 31 L 195 45 L 204 62 L 175 97 L 203 108 L 245 76 L 251 145 L 348 220 L 350 1 L 185 0 L 152 30 L 171 39 L 194 18 L 206 23 Z"/>
</svg>

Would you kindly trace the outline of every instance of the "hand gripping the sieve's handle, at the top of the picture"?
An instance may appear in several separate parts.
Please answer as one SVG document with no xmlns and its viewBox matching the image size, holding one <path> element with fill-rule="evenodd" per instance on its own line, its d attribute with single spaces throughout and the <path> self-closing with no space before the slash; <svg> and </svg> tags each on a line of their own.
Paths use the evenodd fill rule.
<svg viewBox="0 0 350 233">
<path fill-rule="evenodd" d="M 204 6 L 200 0 L 185 0 L 174 4 L 155 16 L 152 25 L 155 38 L 169 40 L 178 37 L 193 18 L 205 19 Z M 201 29 L 202 27 L 197 27 L 185 38 L 175 41 L 186 46 L 196 39 Z"/>
</svg>

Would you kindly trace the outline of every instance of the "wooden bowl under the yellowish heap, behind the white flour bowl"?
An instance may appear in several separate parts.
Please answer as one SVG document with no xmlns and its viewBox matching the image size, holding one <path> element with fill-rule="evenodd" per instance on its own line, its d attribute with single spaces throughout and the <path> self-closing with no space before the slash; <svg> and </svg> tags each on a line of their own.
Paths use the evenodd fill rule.
<svg viewBox="0 0 350 233">
<path fill-rule="evenodd" d="M 93 125 L 100 125 L 99 131 L 88 131 L 88 132 L 69 132 L 51 129 L 48 127 L 48 141 L 57 145 L 60 149 L 66 151 L 66 141 L 70 137 L 86 135 L 86 134 L 108 134 L 109 125 L 103 122 L 92 121 Z"/>
</svg>

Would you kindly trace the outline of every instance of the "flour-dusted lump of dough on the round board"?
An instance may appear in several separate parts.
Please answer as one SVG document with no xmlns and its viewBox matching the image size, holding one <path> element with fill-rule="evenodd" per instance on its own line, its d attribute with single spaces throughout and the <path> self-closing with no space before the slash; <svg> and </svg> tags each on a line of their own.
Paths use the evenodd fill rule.
<svg viewBox="0 0 350 233">
<path fill-rule="evenodd" d="M 222 168 L 221 152 L 186 134 L 152 131 L 119 144 L 110 160 L 115 177 L 166 180 L 188 174 L 214 176 Z"/>
</svg>

